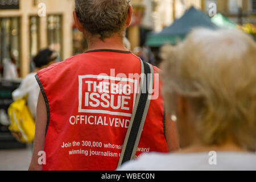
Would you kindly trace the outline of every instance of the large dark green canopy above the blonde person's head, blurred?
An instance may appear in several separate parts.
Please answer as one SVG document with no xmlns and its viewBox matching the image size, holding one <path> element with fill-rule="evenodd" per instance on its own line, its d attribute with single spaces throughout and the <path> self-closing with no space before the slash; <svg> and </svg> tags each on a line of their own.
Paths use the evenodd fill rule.
<svg viewBox="0 0 256 182">
<path fill-rule="evenodd" d="M 196 10 L 195 7 L 191 7 L 180 19 L 175 20 L 170 27 L 164 28 L 159 34 L 152 32 L 148 34 L 146 45 L 160 47 L 166 43 L 176 44 L 183 40 L 192 28 L 196 27 L 218 28 L 210 20 L 209 16 L 205 15 L 202 11 Z"/>
</svg>

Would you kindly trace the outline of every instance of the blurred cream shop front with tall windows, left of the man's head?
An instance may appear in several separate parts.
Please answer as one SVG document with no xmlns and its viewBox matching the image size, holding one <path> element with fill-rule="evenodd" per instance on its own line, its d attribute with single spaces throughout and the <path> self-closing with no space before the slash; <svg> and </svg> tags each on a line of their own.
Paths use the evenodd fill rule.
<svg viewBox="0 0 256 182">
<path fill-rule="evenodd" d="M 0 78 L 6 63 L 15 65 L 18 77 L 25 77 L 43 48 L 54 49 L 58 61 L 72 56 L 74 6 L 72 0 L 0 0 Z"/>
</svg>

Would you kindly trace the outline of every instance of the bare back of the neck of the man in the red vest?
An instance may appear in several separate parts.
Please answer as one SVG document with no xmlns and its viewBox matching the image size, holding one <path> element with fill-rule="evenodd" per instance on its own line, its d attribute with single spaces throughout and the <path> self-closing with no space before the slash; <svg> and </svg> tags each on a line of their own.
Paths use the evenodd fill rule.
<svg viewBox="0 0 256 182">
<path fill-rule="evenodd" d="M 123 38 L 117 35 L 114 35 L 111 38 L 104 39 L 104 41 L 99 38 L 92 38 L 91 40 L 88 40 L 88 51 L 96 49 L 114 49 L 120 51 L 128 51 L 123 45 Z"/>
</svg>

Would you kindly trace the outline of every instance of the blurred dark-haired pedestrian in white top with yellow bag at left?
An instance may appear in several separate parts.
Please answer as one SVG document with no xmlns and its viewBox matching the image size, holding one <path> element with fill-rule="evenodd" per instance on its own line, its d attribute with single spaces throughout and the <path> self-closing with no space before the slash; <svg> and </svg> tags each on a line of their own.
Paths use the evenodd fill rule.
<svg viewBox="0 0 256 182">
<path fill-rule="evenodd" d="M 36 105 L 38 102 L 39 85 L 36 82 L 35 75 L 41 69 L 47 68 L 49 65 L 55 63 L 57 54 L 50 49 L 43 49 L 33 59 L 35 69 L 32 73 L 28 74 L 21 82 L 18 89 L 13 92 L 13 100 L 19 100 L 27 95 L 28 108 L 31 111 L 34 119 L 36 118 Z"/>
</svg>

